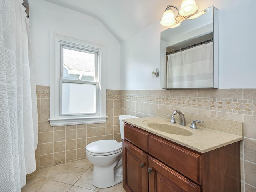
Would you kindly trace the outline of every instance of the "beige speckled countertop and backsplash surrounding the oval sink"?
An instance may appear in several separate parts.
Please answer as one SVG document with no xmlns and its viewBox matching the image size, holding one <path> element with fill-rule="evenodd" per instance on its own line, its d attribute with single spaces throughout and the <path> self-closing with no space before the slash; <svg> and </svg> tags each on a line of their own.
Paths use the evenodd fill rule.
<svg viewBox="0 0 256 192">
<path fill-rule="evenodd" d="M 142 130 L 156 134 L 158 136 L 166 138 L 167 140 L 176 142 L 178 144 L 181 144 L 182 146 L 186 146 L 201 153 L 205 153 L 220 148 L 222 146 L 232 144 L 234 142 L 243 140 L 244 138 L 242 131 L 242 122 L 218 118 L 213 118 L 213 120 L 209 121 L 210 128 L 200 127 L 200 124 L 196 124 L 197 129 L 190 128 L 190 124 L 186 124 L 186 126 L 180 126 L 179 122 L 177 121 L 176 124 L 171 124 L 170 120 L 158 117 L 132 118 L 124 119 L 123 121 L 138 128 L 141 128 Z M 223 132 L 220 131 L 219 127 L 216 128 L 216 130 L 214 129 L 214 125 L 212 125 L 214 121 L 221 121 L 222 124 L 218 124 L 218 126 L 224 127 Z M 184 136 L 162 132 L 157 129 L 150 128 L 148 126 L 148 124 L 150 123 L 173 125 L 177 128 L 182 128 L 191 132 L 191 135 Z M 207 123 L 208 122 L 204 121 L 204 126 L 207 126 Z"/>
</svg>

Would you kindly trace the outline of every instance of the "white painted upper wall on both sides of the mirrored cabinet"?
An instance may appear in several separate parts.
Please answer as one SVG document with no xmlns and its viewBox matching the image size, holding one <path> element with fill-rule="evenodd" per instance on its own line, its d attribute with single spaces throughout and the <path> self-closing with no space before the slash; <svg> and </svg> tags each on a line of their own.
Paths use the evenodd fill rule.
<svg viewBox="0 0 256 192">
<path fill-rule="evenodd" d="M 219 88 L 256 88 L 256 1 L 196 1 L 219 11 Z M 175 5 L 180 6 L 180 5 Z M 121 90 L 161 89 L 160 20 L 121 44 Z M 161 75 L 161 74 L 160 74 Z"/>
</svg>

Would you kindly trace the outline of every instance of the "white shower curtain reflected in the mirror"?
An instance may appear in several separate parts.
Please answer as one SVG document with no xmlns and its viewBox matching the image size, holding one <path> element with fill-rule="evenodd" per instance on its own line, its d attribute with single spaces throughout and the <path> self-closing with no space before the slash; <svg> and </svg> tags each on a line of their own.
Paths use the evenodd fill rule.
<svg viewBox="0 0 256 192">
<path fill-rule="evenodd" d="M 213 42 L 168 55 L 167 88 L 213 87 Z"/>
</svg>

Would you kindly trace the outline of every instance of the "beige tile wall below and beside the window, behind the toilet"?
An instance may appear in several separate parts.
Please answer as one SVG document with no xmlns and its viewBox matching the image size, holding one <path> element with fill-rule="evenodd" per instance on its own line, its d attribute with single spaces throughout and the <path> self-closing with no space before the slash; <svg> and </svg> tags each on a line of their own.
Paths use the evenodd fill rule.
<svg viewBox="0 0 256 192">
<path fill-rule="evenodd" d="M 49 124 L 50 87 L 36 86 L 38 105 L 38 148 L 36 168 L 62 164 L 86 157 L 87 144 L 104 139 L 120 139 L 118 116 L 120 114 L 120 90 L 108 90 L 111 98 L 106 102 L 106 123 L 71 126 Z"/>
</svg>

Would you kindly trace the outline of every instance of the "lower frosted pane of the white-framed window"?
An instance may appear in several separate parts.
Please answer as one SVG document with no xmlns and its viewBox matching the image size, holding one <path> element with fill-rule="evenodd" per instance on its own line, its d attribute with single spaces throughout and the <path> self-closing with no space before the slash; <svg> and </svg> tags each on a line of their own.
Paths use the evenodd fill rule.
<svg viewBox="0 0 256 192">
<path fill-rule="evenodd" d="M 62 114 L 96 113 L 96 85 L 62 83 Z"/>
</svg>

